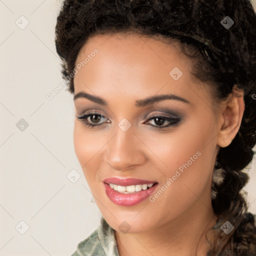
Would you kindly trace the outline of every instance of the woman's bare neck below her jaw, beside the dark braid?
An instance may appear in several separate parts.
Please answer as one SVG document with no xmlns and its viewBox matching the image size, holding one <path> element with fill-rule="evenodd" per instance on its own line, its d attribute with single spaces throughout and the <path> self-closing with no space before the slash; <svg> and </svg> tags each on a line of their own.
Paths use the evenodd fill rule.
<svg viewBox="0 0 256 256">
<path fill-rule="evenodd" d="M 211 205 L 202 204 L 197 200 L 193 209 L 147 232 L 115 231 L 119 255 L 206 256 L 209 249 L 206 232 L 216 223 L 217 218 Z"/>
</svg>

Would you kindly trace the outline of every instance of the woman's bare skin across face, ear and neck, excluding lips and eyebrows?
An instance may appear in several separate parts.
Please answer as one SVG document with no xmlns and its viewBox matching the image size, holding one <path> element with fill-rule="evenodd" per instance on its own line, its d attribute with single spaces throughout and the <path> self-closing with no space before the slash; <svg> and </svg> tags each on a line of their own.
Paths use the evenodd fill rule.
<svg viewBox="0 0 256 256">
<path fill-rule="evenodd" d="M 74 100 L 77 115 L 96 111 L 101 119 L 87 118 L 87 127 L 75 118 L 74 149 L 95 202 L 105 220 L 115 229 L 120 256 L 206 256 L 206 231 L 215 224 L 211 206 L 212 171 L 219 147 L 227 146 L 238 132 L 243 110 L 241 97 L 230 97 L 213 115 L 207 85 L 191 76 L 191 65 L 179 54 L 177 44 L 135 34 L 96 35 L 82 47 L 76 64 L 94 48 L 99 52 L 74 76 L 74 94 L 85 91 L 102 97 L 107 106 L 87 98 Z M 178 67 L 182 76 L 172 79 Z M 135 100 L 172 93 L 189 103 L 165 99 L 137 107 Z M 166 108 L 167 110 L 164 110 Z M 165 111 L 165 112 L 164 112 Z M 178 113 L 177 126 L 149 116 Z M 118 123 L 126 118 L 131 127 Z M 152 126 L 150 126 L 150 124 Z M 116 205 L 107 197 L 103 179 L 111 176 L 157 180 L 157 191 L 197 151 L 200 156 L 154 202 Z M 119 225 L 130 225 L 123 233 Z M 198 244 L 198 246 L 197 246 Z"/>
</svg>

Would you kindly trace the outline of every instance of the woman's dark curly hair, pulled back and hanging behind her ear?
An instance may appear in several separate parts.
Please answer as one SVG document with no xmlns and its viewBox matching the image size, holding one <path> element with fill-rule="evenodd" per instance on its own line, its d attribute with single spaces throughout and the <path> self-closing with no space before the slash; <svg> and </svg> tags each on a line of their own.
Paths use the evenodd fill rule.
<svg viewBox="0 0 256 256">
<path fill-rule="evenodd" d="M 227 17 L 228 16 L 228 17 Z M 230 21 L 233 22 L 230 23 Z M 226 27 L 225 25 L 231 24 Z M 256 255 L 256 227 L 242 187 L 256 142 L 256 15 L 249 0 L 64 0 L 55 27 L 62 77 L 74 93 L 73 70 L 79 51 L 96 34 L 133 32 L 175 40 L 193 61 L 192 75 L 208 84 L 212 101 L 227 99 L 233 86 L 244 91 L 239 131 L 221 147 L 212 179 L 217 216 L 207 256 Z M 205 85 L 206 86 L 206 85 Z M 229 221 L 233 230 L 220 228 Z"/>
</svg>

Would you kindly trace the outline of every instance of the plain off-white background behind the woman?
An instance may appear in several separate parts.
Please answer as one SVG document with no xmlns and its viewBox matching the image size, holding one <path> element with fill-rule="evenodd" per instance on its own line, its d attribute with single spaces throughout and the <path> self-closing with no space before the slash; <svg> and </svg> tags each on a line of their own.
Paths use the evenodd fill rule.
<svg viewBox="0 0 256 256">
<path fill-rule="evenodd" d="M 101 217 L 74 153 L 72 95 L 63 88 L 46 97 L 63 82 L 54 45 L 60 3 L 0 0 L 0 256 L 70 256 Z M 71 170 L 71 180 L 80 175 L 74 183 Z M 256 213 L 255 157 L 249 175 Z"/>
</svg>

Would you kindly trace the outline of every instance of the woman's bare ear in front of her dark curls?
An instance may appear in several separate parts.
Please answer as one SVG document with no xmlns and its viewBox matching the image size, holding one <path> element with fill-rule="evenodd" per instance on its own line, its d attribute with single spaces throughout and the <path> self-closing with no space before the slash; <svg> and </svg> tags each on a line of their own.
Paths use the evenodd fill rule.
<svg viewBox="0 0 256 256">
<path fill-rule="evenodd" d="M 220 147 L 228 146 L 238 132 L 244 112 L 243 90 L 233 86 L 233 93 L 223 103 L 220 111 L 219 132 L 217 144 Z"/>
</svg>

